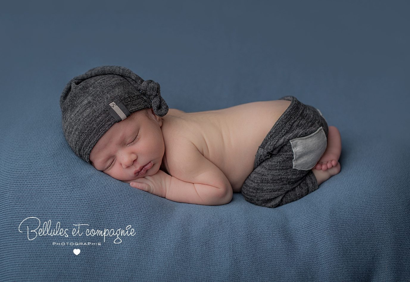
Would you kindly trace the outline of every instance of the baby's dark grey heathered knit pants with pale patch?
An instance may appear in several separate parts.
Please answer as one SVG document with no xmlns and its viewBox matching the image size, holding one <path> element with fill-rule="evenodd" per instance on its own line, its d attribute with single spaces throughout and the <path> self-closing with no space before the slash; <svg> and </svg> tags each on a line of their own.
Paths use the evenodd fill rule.
<svg viewBox="0 0 410 282">
<path fill-rule="evenodd" d="M 321 112 L 292 101 L 273 125 L 255 155 L 254 169 L 241 193 L 258 206 L 278 207 L 318 189 L 312 168 L 326 150 L 328 124 Z"/>
</svg>

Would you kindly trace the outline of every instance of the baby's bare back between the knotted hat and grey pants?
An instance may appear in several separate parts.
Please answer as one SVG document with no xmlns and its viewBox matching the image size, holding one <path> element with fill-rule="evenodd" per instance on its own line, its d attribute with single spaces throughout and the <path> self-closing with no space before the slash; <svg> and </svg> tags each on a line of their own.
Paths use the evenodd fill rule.
<svg viewBox="0 0 410 282">
<path fill-rule="evenodd" d="M 174 145 L 175 134 L 185 136 L 225 174 L 232 190 L 240 192 L 253 171 L 258 147 L 290 103 L 260 101 L 194 113 L 169 109 L 162 127 L 165 158 L 174 155 L 171 150 L 184 150 Z"/>
</svg>

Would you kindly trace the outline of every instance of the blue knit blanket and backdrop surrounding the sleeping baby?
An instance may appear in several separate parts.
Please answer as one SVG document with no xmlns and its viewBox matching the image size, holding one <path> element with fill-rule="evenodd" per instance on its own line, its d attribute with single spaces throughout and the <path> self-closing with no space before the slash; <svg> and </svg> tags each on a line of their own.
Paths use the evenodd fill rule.
<svg viewBox="0 0 410 282">
<path fill-rule="evenodd" d="M 408 1 L 1 6 L 1 280 L 409 279 Z M 76 157 L 61 128 L 64 86 L 101 65 L 155 80 L 187 112 L 295 96 L 339 129 L 342 170 L 276 209 L 132 189 Z M 30 216 L 137 235 L 75 256 L 18 232 Z"/>
</svg>

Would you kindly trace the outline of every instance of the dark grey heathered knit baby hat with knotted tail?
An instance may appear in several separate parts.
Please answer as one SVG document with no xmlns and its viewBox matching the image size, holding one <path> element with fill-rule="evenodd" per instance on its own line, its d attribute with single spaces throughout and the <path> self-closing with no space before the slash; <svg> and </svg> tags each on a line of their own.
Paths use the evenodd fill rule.
<svg viewBox="0 0 410 282">
<path fill-rule="evenodd" d="M 60 108 L 68 144 L 89 164 L 91 150 L 114 123 L 142 109 L 152 108 L 157 116 L 168 112 L 157 82 L 121 66 L 99 66 L 74 77 L 60 96 Z"/>
</svg>

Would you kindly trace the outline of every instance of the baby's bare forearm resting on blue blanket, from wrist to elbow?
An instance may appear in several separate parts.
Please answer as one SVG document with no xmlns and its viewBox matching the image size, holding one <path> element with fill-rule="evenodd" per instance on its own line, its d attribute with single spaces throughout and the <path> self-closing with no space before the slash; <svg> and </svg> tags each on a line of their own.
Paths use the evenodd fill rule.
<svg viewBox="0 0 410 282">
<path fill-rule="evenodd" d="M 198 205 L 224 205 L 232 199 L 232 194 L 214 186 L 191 183 L 169 175 L 166 181 L 165 198 L 175 202 Z"/>
</svg>

